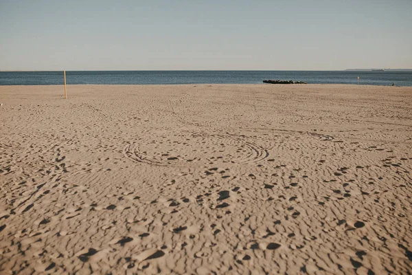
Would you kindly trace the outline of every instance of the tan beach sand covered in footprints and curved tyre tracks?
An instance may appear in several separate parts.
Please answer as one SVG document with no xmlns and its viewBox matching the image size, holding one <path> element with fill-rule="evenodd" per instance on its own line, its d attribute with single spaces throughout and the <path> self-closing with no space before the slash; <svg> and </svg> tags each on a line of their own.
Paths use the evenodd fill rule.
<svg viewBox="0 0 412 275">
<path fill-rule="evenodd" d="M 0 87 L 1 274 L 411 274 L 412 88 Z"/>
</svg>

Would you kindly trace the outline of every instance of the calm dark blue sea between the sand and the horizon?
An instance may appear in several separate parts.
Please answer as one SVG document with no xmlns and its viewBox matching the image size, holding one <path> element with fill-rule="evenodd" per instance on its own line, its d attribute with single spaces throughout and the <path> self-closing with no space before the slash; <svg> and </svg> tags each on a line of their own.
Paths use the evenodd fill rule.
<svg viewBox="0 0 412 275">
<path fill-rule="evenodd" d="M 255 84 L 265 79 L 314 84 L 412 86 L 412 72 L 352 71 L 82 71 L 66 72 L 67 84 Z M 61 85 L 62 72 L 0 72 L 0 85 Z"/>
</svg>

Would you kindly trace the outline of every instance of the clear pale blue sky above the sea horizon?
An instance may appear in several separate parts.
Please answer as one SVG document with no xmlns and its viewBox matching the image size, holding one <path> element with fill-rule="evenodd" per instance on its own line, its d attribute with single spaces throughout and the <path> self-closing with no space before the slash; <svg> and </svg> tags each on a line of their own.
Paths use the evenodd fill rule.
<svg viewBox="0 0 412 275">
<path fill-rule="evenodd" d="M 2 70 L 412 68 L 412 0 L 0 0 Z"/>
</svg>

